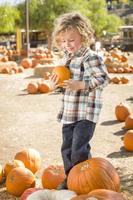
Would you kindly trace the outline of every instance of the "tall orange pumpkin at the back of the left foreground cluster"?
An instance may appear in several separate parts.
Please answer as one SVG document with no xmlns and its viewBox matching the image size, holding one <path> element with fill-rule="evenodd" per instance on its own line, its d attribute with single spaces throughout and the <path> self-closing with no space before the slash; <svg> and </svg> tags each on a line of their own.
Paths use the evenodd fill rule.
<svg viewBox="0 0 133 200">
<path fill-rule="evenodd" d="M 35 173 L 41 167 L 40 153 L 33 149 L 23 149 L 15 155 L 15 159 L 21 160 L 25 167 Z"/>
</svg>

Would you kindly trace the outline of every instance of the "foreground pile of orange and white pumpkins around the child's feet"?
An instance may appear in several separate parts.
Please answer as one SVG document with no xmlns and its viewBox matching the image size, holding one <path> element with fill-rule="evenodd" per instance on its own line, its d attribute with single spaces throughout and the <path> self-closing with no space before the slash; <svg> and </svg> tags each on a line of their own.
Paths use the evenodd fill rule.
<svg viewBox="0 0 133 200">
<path fill-rule="evenodd" d="M 35 173 L 41 167 L 40 153 L 23 149 L 14 160 L 2 168 L 0 180 L 5 177 L 7 192 L 20 200 L 124 200 L 120 194 L 120 179 L 114 166 L 106 159 L 95 157 L 75 165 L 68 175 L 68 190 L 56 190 L 65 179 L 63 166 L 45 167 L 36 185 Z"/>
</svg>

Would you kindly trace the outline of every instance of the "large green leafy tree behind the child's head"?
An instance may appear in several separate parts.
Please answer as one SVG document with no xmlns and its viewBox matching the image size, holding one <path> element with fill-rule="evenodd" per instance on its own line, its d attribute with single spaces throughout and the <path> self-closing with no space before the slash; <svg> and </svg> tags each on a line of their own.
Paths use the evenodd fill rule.
<svg viewBox="0 0 133 200">
<path fill-rule="evenodd" d="M 50 45 L 56 17 L 62 13 L 79 11 L 90 19 L 96 36 L 100 37 L 103 30 L 116 32 L 122 24 L 118 16 L 108 14 L 106 6 L 105 0 L 30 0 L 30 29 L 43 30 Z M 24 28 L 25 4 L 21 3 L 17 8 L 21 16 L 20 25 Z"/>
</svg>

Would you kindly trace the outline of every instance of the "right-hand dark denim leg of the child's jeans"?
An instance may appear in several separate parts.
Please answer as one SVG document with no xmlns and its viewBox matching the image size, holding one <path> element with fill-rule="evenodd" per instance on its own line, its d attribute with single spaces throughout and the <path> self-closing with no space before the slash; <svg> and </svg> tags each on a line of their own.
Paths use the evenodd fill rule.
<svg viewBox="0 0 133 200">
<path fill-rule="evenodd" d="M 71 152 L 71 163 L 76 165 L 79 162 L 91 158 L 90 144 L 96 123 L 89 120 L 82 120 L 76 123 L 73 130 L 73 141 L 72 141 L 72 152 Z"/>
</svg>

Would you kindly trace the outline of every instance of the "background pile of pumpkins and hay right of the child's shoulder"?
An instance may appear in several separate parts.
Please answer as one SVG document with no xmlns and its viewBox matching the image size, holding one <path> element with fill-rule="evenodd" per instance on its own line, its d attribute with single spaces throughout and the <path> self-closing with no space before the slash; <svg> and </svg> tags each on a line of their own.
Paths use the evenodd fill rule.
<svg viewBox="0 0 133 200">
<path fill-rule="evenodd" d="M 128 57 L 118 49 L 113 49 L 105 57 L 109 73 L 133 73 L 133 66 L 128 64 Z"/>
</svg>

